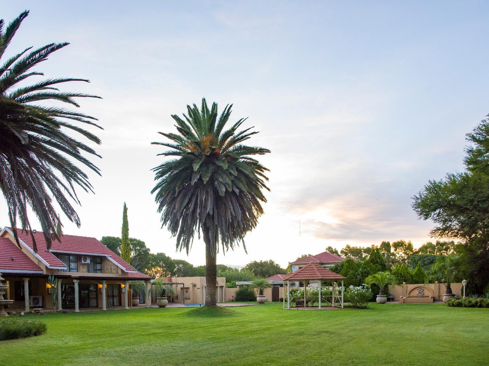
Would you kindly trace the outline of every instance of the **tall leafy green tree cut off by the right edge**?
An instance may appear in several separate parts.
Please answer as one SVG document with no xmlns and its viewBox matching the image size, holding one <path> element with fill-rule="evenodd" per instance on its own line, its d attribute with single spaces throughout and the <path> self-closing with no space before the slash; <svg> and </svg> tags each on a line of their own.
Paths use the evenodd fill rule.
<svg viewBox="0 0 489 366">
<path fill-rule="evenodd" d="M 489 115 L 487 116 L 489 117 Z M 489 256 L 489 119 L 467 134 L 466 169 L 429 181 L 413 197 L 412 207 L 422 220 L 432 220 L 432 237 L 462 241 L 461 271 L 470 273 L 471 284 L 482 293 Z M 471 262 L 465 262 L 470 260 Z M 471 270 L 470 268 L 476 268 Z"/>
</svg>

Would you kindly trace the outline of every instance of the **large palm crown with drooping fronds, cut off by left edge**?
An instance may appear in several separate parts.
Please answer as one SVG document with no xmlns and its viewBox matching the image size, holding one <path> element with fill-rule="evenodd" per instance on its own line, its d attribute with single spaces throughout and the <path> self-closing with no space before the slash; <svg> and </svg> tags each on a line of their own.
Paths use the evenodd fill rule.
<svg viewBox="0 0 489 366">
<path fill-rule="evenodd" d="M 38 217 L 48 249 L 52 238 L 59 240 L 61 235 L 61 222 L 53 207 L 52 197 L 67 218 L 80 226 L 80 218 L 68 198 L 80 203 L 75 193 L 75 185 L 85 191 L 92 191 L 88 176 L 78 163 L 100 175 L 99 169 L 82 153 L 100 156 L 66 132 L 74 131 L 89 141 L 100 144 L 95 135 L 81 128 L 78 123 L 101 127 L 93 122 L 96 121 L 94 117 L 52 105 L 52 102 L 65 102 L 79 107 L 73 98 L 99 98 L 88 94 L 63 92 L 55 87 L 67 81 L 89 82 L 88 80 L 59 78 L 27 86 L 19 85 L 27 78 L 44 75 L 31 71 L 32 67 L 69 44 L 50 43 L 35 50 L 28 47 L 4 60 L 7 46 L 28 14 L 28 11 L 22 12 L 6 27 L 4 21 L 0 20 L 0 189 L 7 202 L 9 220 L 17 244 L 19 239 L 16 229 L 19 218 L 22 230 L 30 232 L 34 250 L 37 251 L 27 217 L 27 207 Z M 41 101 L 49 101 L 50 105 L 38 104 Z M 75 123 L 72 124 L 70 121 Z"/>
</svg>

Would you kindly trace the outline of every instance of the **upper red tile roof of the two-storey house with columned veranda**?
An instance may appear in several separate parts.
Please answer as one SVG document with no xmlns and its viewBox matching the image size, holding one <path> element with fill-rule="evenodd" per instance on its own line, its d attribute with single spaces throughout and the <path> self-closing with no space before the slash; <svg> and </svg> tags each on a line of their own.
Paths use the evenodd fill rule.
<svg viewBox="0 0 489 366">
<path fill-rule="evenodd" d="M 32 239 L 28 232 L 22 232 L 21 229 L 17 229 L 17 234 L 22 242 L 28 245 L 31 249 L 33 248 Z M 57 240 L 53 240 L 50 249 L 51 252 L 46 251 L 46 241 L 44 240 L 44 234 L 42 231 L 36 232 L 34 234 L 34 239 L 36 240 L 37 244 L 37 254 L 51 266 L 61 266 L 66 268 L 66 265 L 56 258 L 51 252 L 68 252 L 109 256 L 126 271 L 136 270 L 132 265 L 123 261 L 122 258 L 95 238 L 76 235 L 63 235 L 61 237 L 61 243 Z"/>
</svg>

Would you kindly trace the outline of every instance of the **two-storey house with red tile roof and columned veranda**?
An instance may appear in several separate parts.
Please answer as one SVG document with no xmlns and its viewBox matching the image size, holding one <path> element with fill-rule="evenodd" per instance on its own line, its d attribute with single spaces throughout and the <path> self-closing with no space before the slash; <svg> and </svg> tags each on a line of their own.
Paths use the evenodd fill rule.
<svg viewBox="0 0 489 366">
<path fill-rule="evenodd" d="M 0 273 L 9 285 L 7 299 L 14 300 L 7 310 L 52 309 L 52 293 L 57 292 L 58 309 L 129 308 L 129 281 L 152 278 L 138 272 L 95 238 L 63 235 L 61 243 L 53 240 L 50 250 L 42 232 L 34 232 L 37 253 L 31 235 L 18 229 L 20 248 L 8 227 L 0 232 Z M 51 288 L 48 275 L 56 278 Z M 142 299 L 146 306 L 151 300 Z"/>
</svg>

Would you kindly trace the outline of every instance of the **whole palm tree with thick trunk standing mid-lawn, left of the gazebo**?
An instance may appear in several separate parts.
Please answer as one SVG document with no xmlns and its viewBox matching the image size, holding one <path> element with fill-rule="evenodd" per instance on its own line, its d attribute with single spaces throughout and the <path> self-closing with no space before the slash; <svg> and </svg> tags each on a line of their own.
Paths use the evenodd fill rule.
<svg viewBox="0 0 489 366">
<path fill-rule="evenodd" d="M 187 105 L 188 116 L 177 115 L 176 133 L 162 133 L 171 142 L 153 142 L 171 150 L 159 155 L 174 156 L 156 166 L 152 190 L 156 193 L 162 227 L 167 225 L 177 237 L 177 249 L 192 246 L 195 232 L 200 231 L 205 243 L 205 305 L 216 305 L 216 255 L 222 250 L 243 244 L 244 235 L 258 223 L 263 214 L 261 202 L 266 202 L 262 189 L 267 189 L 266 167 L 252 158 L 270 150 L 246 146 L 242 142 L 257 132 L 237 129 L 246 119 L 240 119 L 224 130 L 231 115 L 226 105 L 218 116 L 218 105 L 207 106 L 205 99 L 199 110 Z"/>
</svg>

